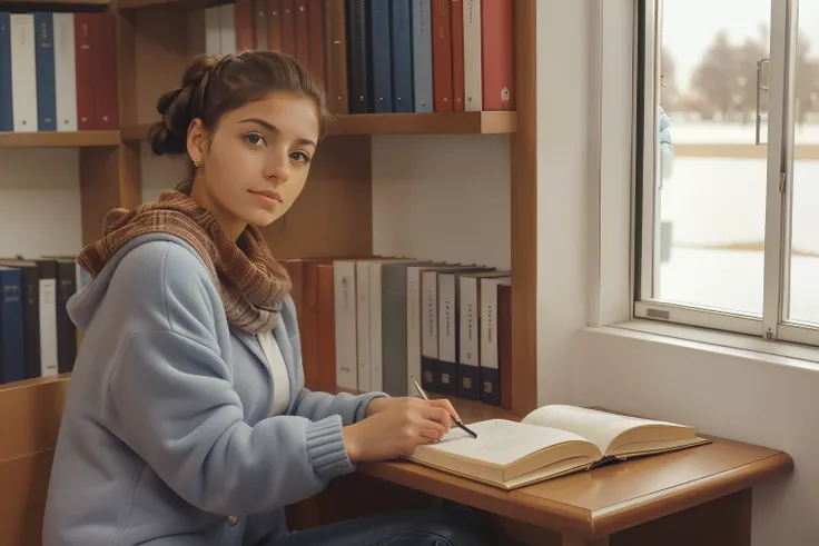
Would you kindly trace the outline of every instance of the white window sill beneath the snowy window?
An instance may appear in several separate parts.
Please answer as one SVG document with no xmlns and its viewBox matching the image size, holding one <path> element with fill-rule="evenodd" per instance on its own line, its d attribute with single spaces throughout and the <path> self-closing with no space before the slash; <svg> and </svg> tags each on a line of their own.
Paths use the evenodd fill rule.
<svg viewBox="0 0 819 546">
<path fill-rule="evenodd" d="M 643 319 L 589 327 L 588 330 L 819 371 L 819 347 Z"/>
</svg>

